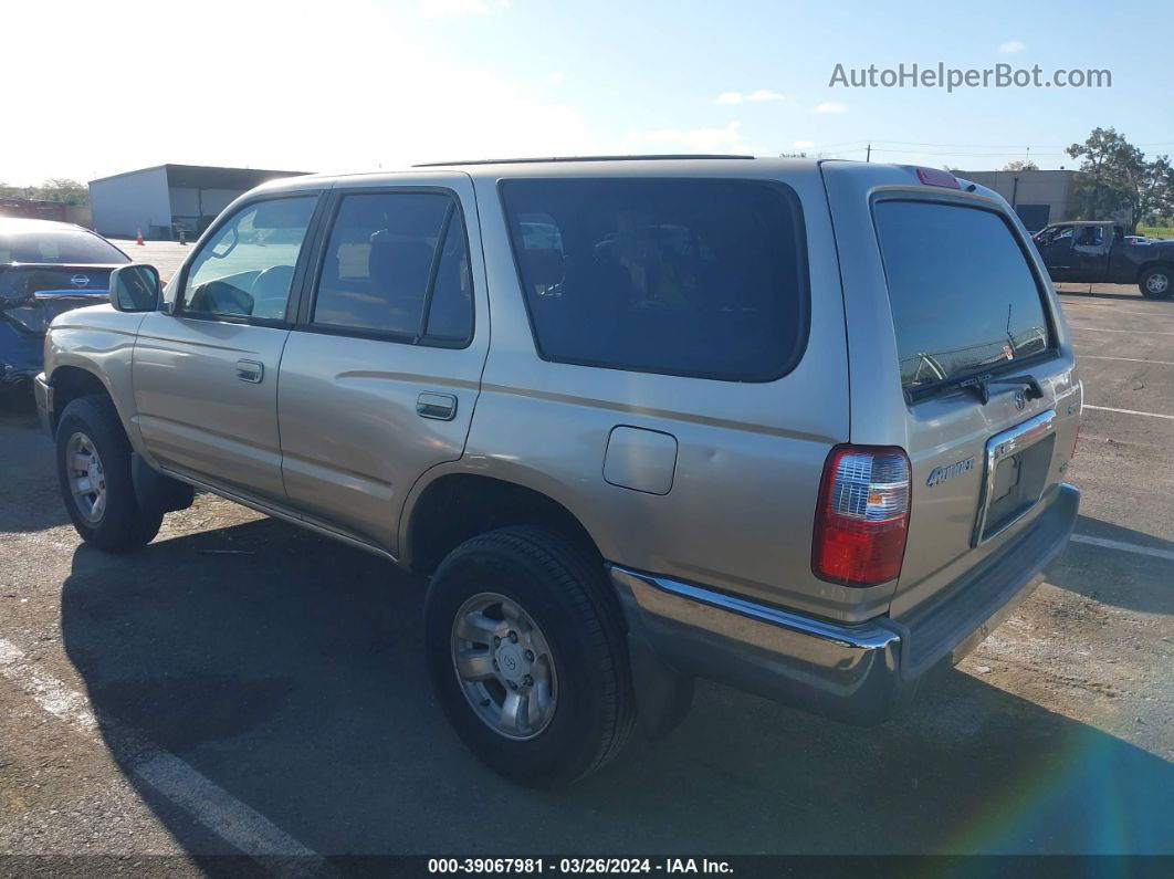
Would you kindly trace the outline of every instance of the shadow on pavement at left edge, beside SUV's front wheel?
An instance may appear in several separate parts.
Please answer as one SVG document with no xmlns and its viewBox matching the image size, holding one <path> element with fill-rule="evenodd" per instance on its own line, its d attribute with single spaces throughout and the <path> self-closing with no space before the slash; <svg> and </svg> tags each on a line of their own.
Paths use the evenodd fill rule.
<svg viewBox="0 0 1174 879">
<path fill-rule="evenodd" d="M 0 532 L 40 532 L 69 522 L 58 491 L 53 440 L 28 388 L 0 399 Z"/>
</svg>

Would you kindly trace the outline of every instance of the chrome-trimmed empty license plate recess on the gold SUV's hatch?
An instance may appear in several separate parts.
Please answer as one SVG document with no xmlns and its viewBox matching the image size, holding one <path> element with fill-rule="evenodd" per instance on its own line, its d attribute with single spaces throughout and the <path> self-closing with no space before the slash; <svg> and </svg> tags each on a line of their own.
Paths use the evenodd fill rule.
<svg viewBox="0 0 1174 879">
<path fill-rule="evenodd" d="M 1010 528 L 1039 502 L 1052 469 L 1054 415 L 1045 412 L 987 441 L 974 546 Z"/>
</svg>

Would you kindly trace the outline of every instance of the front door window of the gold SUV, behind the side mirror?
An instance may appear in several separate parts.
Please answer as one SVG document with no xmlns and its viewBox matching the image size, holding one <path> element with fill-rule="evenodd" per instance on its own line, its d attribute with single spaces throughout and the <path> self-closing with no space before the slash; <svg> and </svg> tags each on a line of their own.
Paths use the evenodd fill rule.
<svg viewBox="0 0 1174 879">
<path fill-rule="evenodd" d="M 245 205 L 196 255 L 181 311 L 282 320 L 317 196 Z"/>
</svg>

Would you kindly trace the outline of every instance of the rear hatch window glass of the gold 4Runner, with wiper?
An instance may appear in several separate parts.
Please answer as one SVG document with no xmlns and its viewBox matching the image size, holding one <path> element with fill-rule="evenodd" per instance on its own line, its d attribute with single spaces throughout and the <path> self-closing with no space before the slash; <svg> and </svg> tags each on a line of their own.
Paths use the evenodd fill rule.
<svg viewBox="0 0 1174 879">
<path fill-rule="evenodd" d="M 888 201 L 876 224 L 906 391 L 1051 347 L 1035 275 L 998 214 Z"/>
</svg>

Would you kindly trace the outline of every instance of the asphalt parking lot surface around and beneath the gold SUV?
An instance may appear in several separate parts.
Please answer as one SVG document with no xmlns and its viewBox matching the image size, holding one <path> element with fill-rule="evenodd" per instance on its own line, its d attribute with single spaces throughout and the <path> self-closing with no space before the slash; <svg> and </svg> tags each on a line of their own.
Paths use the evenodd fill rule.
<svg viewBox="0 0 1174 879">
<path fill-rule="evenodd" d="M 558 793 L 445 725 L 419 582 L 212 496 L 104 556 L 0 417 L 0 853 L 1174 853 L 1174 303 L 1062 299 L 1086 540 L 1014 617 L 898 722 L 702 684 Z"/>
</svg>

